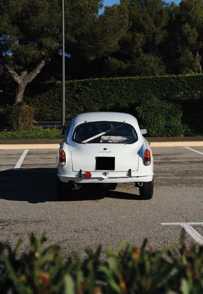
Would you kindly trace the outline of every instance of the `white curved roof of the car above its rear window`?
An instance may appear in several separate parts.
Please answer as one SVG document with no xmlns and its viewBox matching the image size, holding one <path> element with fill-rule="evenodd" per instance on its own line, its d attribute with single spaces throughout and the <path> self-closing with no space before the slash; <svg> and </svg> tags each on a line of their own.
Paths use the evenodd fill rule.
<svg viewBox="0 0 203 294">
<path fill-rule="evenodd" d="M 75 116 L 72 119 L 72 123 L 75 125 L 83 123 L 85 121 L 125 121 L 126 123 L 130 123 L 133 125 L 137 125 L 137 118 L 132 115 L 126 113 L 118 113 L 118 112 L 91 112 L 91 113 L 83 113 Z"/>
</svg>

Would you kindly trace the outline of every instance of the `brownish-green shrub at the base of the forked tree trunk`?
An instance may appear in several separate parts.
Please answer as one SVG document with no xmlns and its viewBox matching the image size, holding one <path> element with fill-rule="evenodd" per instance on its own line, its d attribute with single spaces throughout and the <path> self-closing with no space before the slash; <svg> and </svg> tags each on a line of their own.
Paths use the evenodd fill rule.
<svg viewBox="0 0 203 294">
<path fill-rule="evenodd" d="M 7 126 L 13 130 L 23 130 L 31 127 L 35 122 L 35 109 L 30 105 L 8 106 Z"/>
</svg>

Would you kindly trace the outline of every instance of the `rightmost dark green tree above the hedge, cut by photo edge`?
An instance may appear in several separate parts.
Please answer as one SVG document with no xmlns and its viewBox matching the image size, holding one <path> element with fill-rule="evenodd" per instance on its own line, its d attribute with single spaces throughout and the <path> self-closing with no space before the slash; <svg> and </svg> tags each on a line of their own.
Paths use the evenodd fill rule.
<svg viewBox="0 0 203 294">
<path fill-rule="evenodd" d="M 163 45 L 169 73 L 201 73 L 203 56 L 203 1 L 182 0 L 171 5 L 168 37 Z"/>
</svg>

